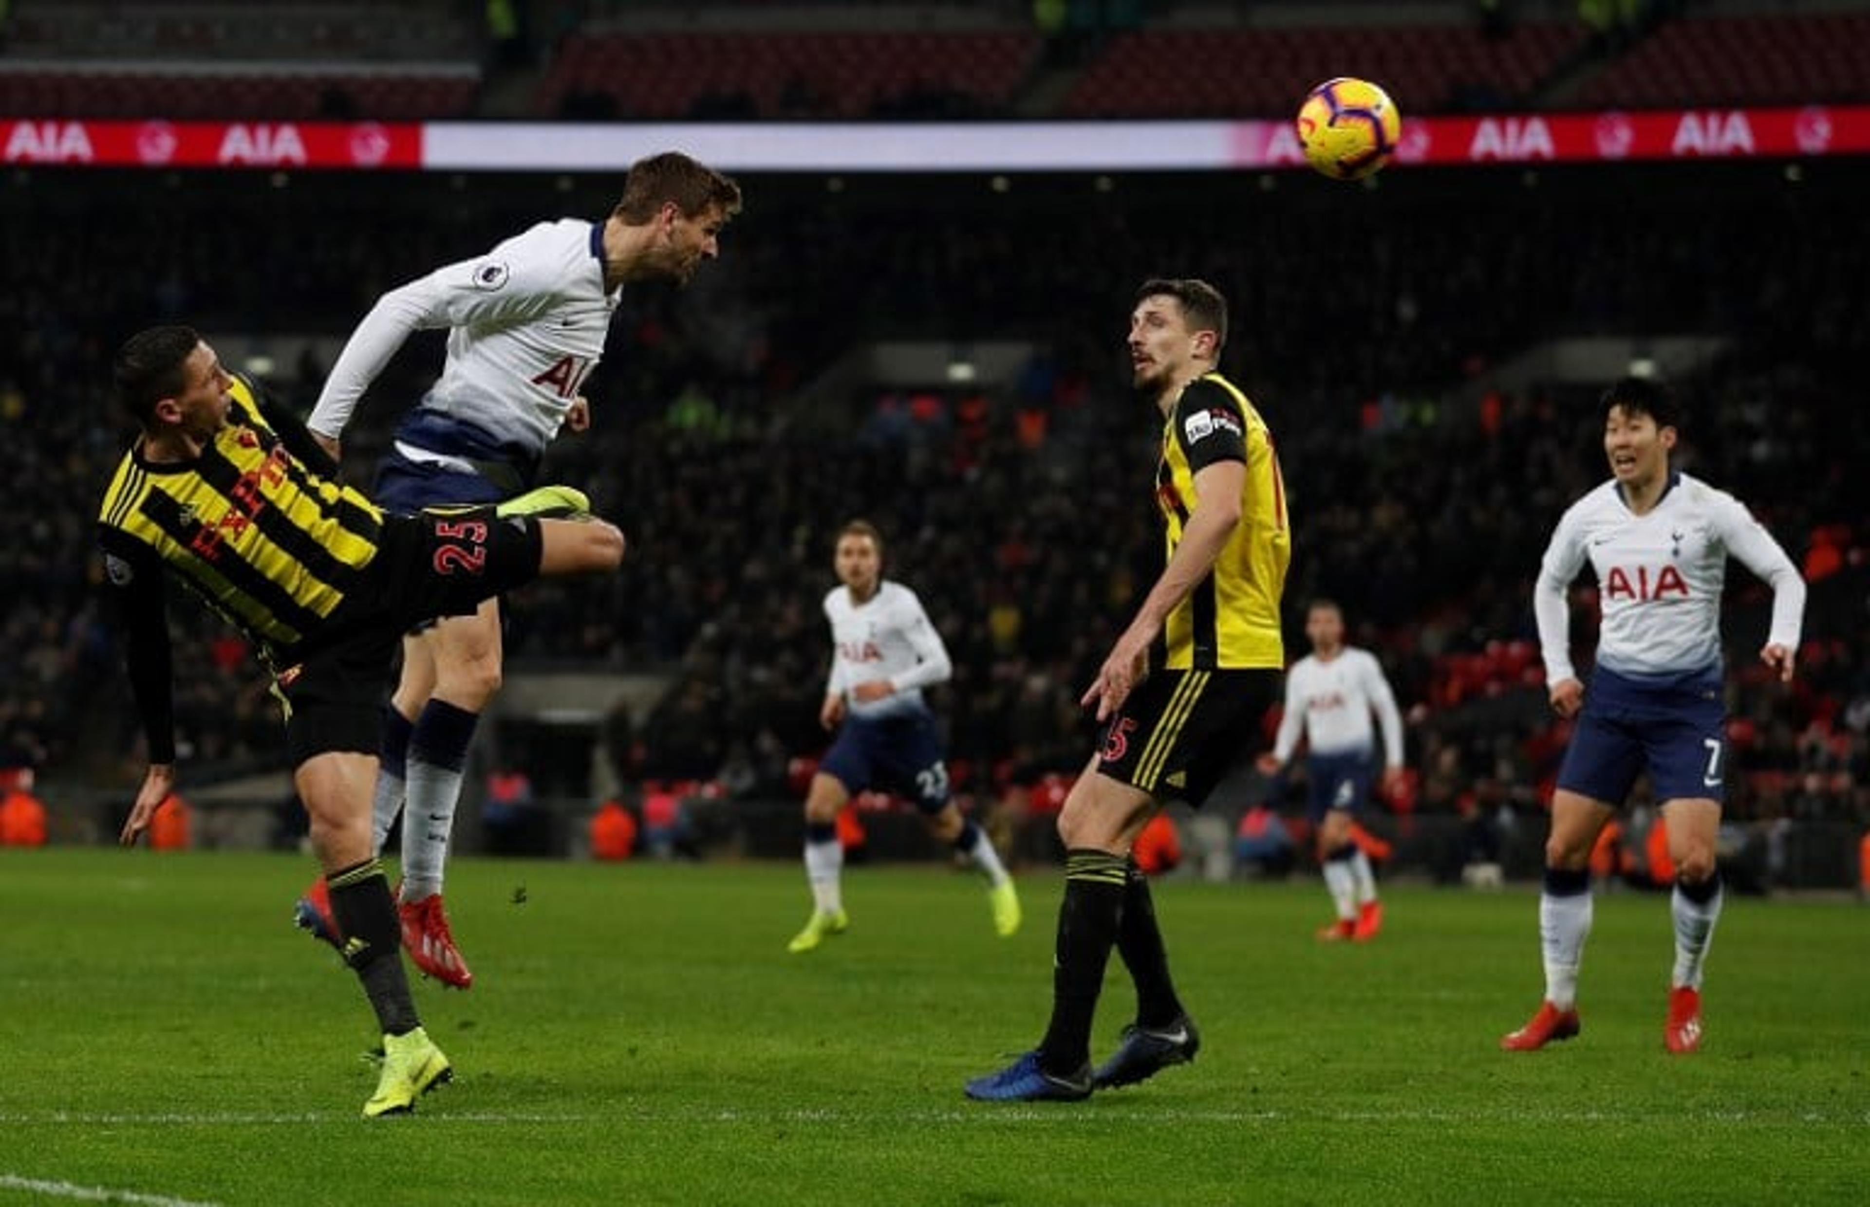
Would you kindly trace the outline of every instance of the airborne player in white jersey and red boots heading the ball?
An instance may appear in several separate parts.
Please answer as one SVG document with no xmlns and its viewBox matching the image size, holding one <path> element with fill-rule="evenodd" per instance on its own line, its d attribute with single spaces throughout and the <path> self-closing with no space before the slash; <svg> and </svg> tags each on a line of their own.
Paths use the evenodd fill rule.
<svg viewBox="0 0 1870 1207">
<path fill-rule="evenodd" d="M 666 151 L 630 166 L 610 217 L 561 219 L 391 290 L 352 333 L 307 426 L 338 456 L 363 392 L 415 331 L 447 329 L 441 377 L 396 428 L 372 499 L 391 512 L 499 503 L 535 486 L 561 428 L 583 432 L 580 394 L 604 355 L 623 286 L 684 284 L 720 247 L 741 191 L 694 159 Z M 473 973 L 441 904 L 443 865 L 462 770 L 481 712 L 499 691 L 499 602 L 404 641 L 402 676 L 383 710 L 374 850 L 408 798 L 402 828 L 402 938 L 415 964 L 468 988 Z M 297 921 L 342 944 L 325 884 L 301 897 Z"/>
</svg>

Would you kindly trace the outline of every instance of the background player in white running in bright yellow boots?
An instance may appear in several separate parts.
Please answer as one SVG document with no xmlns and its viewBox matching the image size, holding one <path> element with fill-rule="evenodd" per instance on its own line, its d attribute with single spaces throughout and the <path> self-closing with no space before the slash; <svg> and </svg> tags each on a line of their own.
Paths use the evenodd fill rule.
<svg viewBox="0 0 1870 1207">
<path fill-rule="evenodd" d="M 838 811 L 855 792 L 883 788 L 914 802 L 929 833 L 967 856 L 987 880 L 993 929 L 1019 930 L 1019 897 L 987 833 L 948 796 L 935 714 L 922 689 L 946 682 L 948 648 L 916 592 L 883 577 L 883 536 L 862 519 L 838 532 L 840 587 L 825 596 L 832 661 L 819 719 L 838 729 L 806 794 L 806 880 L 812 917 L 787 944 L 800 955 L 851 925 L 840 878 Z M 840 729 L 842 725 L 842 729 Z"/>
</svg>

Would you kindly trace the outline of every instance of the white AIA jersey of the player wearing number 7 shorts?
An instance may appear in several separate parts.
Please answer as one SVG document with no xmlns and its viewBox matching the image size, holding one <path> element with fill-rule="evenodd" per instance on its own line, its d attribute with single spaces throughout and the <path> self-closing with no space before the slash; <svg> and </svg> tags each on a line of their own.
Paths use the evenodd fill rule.
<svg viewBox="0 0 1870 1207">
<path fill-rule="evenodd" d="M 1573 503 L 1552 532 L 1533 590 L 1546 682 L 1576 678 L 1567 590 L 1586 559 L 1597 572 L 1603 611 L 1601 667 L 1619 674 L 1719 667 L 1720 589 L 1730 553 L 1773 585 L 1767 643 L 1795 650 L 1805 579 L 1733 495 L 1674 475 L 1646 516 L 1629 510 L 1614 478 Z"/>
</svg>

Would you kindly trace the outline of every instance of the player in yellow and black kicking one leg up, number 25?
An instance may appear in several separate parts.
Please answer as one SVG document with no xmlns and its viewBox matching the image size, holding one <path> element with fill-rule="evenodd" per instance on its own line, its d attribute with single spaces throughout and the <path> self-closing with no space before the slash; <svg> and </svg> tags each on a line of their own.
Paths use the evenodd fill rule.
<svg viewBox="0 0 1870 1207">
<path fill-rule="evenodd" d="M 135 843 L 176 785 L 165 579 L 232 622 L 273 673 L 294 785 L 329 882 L 333 927 L 383 1033 L 365 1115 L 406 1112 L 451 1076 L 410 998 L 396 906 L 370 846 L 378 703 L 402 633 L 471 613 L 540 574 L 615 570 L 623 534 L 546 486 L 497 510 L 389 516 L 331 478 L 299 422 L 228 374 L 189 327 L 153 327 L 116 357 L 142 435 L 99 510 L 125 626 L 150 770 L 122 839 Z"/>
</svg>

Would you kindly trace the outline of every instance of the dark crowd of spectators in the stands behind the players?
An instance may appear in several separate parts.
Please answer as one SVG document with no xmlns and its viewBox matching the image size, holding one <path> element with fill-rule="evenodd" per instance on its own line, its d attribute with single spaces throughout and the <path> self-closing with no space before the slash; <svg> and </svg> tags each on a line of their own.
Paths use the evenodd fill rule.
<svg viewBox="0 0 1870 1207">
<path fill-rule="evenodd" d="M 1604 189 L 1502 176 L 1462 178 L 1459 206 L 1434 178 L 1378 194 L 1055 183 L 1025 206 L 957 183 L 840 202 L 752 181 L 722 262 L 688 293 L 632 291 L 617 320 L 587 387 L 597 426 L 552 454 L 552 473 L 625 525 L 628 566 L 524 592 L 514 665 L 679 667 L 669 697 L 623 727 L 625 770 L 784 794 L 789 762 L 825 744 L 832 534 L 866 516 L 954 654 L 937 704 L 957 783 L 987 794 L 1077 770 L 1090 742 L 1077 693 L 1159 561 L 1154 422 L 1122 389 L 1126 316 L 1144 277 L 1187 271 L 1234 299 L 1227 362 L 1279 441 L 1292 652 L 1298 607 L 1339 600 L 1410 714 L 1423 811 L 1537 809 L 1565 738 L 1537 682 L 1528 590 L 1558 512 L 1603 476 L 1595 389 L 1490 392 L 1487 370 L 1560 333 L 1733 336 L 1685 383 L 1685 467 L 1752 503 L 1816 581 L 1801 682 L 1780 691 L 1750 669 L 1763 596 L 1745 572 L 1730 579 L 1733 740 L 1756 774 L 1735 809 L 1863 813 L 1870 532 L 1853 462 L 1870 432 L 1851 349 L 1870 265 L 1861 243 L 1814 235 L 1848 226 L 1855 191 L 1733 179 L 1689 220 L 1707 179 L 1733 178 L 1679 178 L 1616 207 Z M 514 181 L 189 183 L 135 204 L 50 178 L 0 192 L 0 252 L 21 275 L 0 295 L 0 473 L 26 501 L 0 542 L 0 738 L 47 774 L 99 747 L 137 760 L 84 553 L 125 441 L 107 390 L 116 342 L 165 320 L 209 336 L 340 334 L 383 288 L 533 219 L 608 206 L 589 181 L 570 196 Z M 56 191 L 56 222 L 32 191 Z M 907 333 L 1023 338 L 1034 355 L 978 389 L 800 394 L 851 344 Z M 367 400 L 359 475 L 432 353 L 398 359 Z M 280 389 L 303 407 L 318 366 L 301 368 Z M 174 615 L 200 635 L 178 643 L 191 760 L 277 757 L 239 641 L 193 607 Z"/>
</svg>

